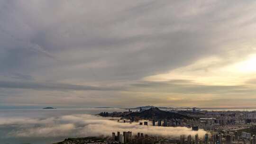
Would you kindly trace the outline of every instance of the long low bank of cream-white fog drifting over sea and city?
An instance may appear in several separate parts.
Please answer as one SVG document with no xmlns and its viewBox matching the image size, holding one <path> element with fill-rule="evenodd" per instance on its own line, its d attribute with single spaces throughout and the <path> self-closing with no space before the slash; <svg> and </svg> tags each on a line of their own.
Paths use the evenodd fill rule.
<svg viewBox="0 0 256 144">
<path fill-rule="evenodd" d="M 80 114 L 62 117 L 49 117 L 46 119 L 15 118 L 6 121 L 0 118 L 0 126 L 13 126 L 12 131 L 4 136 L 9 137 L 85 137 L 85 136 L 111 136 L 112 132 L 132 131 L 148 135 L 179 137 L 180 135 L 203 136 L 204 130 L 192 131 L 186 127 L 140 126 L 138 123 L 120 123 L 117 120 Z"/>
</svg>

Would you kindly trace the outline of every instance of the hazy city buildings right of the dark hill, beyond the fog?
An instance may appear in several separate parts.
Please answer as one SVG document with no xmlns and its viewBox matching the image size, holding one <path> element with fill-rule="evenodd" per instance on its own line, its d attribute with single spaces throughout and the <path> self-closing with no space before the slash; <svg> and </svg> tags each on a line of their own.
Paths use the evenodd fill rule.
<svg viewBox="0 0 256 144">
<path fill-rule="evenodd" d="M 152 117 L 150 121 L 152 121 L 152 126 L 198 126 L 207 131 L 235 131 L 256 126 L 256 111 L 200 111 L 199 113 L 196 110 L 195 113 L 186 114 L 196 119 L 156 119 Z"/>
</svg>

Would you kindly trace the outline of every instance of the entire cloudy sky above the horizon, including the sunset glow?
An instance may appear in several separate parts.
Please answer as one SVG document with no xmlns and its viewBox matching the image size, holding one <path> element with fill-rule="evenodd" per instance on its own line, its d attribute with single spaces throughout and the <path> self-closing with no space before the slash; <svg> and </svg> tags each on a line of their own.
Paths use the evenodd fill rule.
<svg viewBox="0 0 256 144">
<path fill-rule="evenodd" d="M 0 108 L 256 108 L 254 0 L 0 0 Z"/>
</svg>

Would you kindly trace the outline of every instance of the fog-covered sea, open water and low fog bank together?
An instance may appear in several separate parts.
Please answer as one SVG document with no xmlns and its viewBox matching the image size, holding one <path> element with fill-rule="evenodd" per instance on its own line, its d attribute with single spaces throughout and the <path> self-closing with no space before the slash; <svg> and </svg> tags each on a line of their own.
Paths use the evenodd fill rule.
<svg viewBox="0 0 256 144">
<path fill-rule="evenodd" d="M 186 127 L 121 123 L 110 120 L 110 117 L 95 115 L 101 111 L 126 111 L 126 109 L 2 109 L 0 110 L 0 144 L 51 144 L 63 141 L 67 137 L 110 136 L 112 132 L 117 131 L 168 137 L 205 134 L 203 130 L 195 132 Z"/>
</svg>

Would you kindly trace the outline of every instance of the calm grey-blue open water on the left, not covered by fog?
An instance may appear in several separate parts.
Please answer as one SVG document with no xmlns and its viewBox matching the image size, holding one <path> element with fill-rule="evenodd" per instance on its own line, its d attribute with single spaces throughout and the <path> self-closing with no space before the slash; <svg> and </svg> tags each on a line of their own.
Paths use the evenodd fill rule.
<svg viewBox="0 0 256 144">
<path fill-rule="evenodd" d="M 0 110 L 0 144 L 51 144 L 54 142 L 63 141 L 66 137 L 56 136 L 48 137 L 41 136 L 6 136 L 8 133 L 15 132 L 17 129 L 25 129 L 31 127 L 25 122 L 34 123 L 33 119 L 46 119 L 49 117 L 62 117 L 76 114 L 91 114 L 95 115 L 101 111 L 126 111 L 118 108 L 83 108 L 83 109 L 26 109 L 26 110 Z M 14 122 L 12 122 L 14 121 Z M 24 122 L 25 121 L 25 122 Z M 10 124 L 8 124 L 10 122 Z M 33 124 L 37 126 L 37 123 Z M 73 135 L 75 136 L 75 135 Z"/>
</svg>

